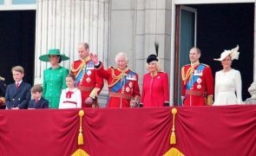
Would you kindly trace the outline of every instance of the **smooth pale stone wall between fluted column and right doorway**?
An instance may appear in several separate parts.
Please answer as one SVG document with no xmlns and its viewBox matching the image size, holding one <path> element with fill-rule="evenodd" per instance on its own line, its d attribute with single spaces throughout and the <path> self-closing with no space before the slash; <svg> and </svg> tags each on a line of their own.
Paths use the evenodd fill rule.
<svg viewBox="0 0 256 156">
<path fill-rule="evenodd" d="M 148 72 L 146 59 L 155 54 L 154 42 L 160 44 L 159 58 L 169 74 L 171 0 L 112 0 L 110 29 L 110 55 L 128 54 L 129 67 L 140 75 L 140 86 Z"/>
</svg>

